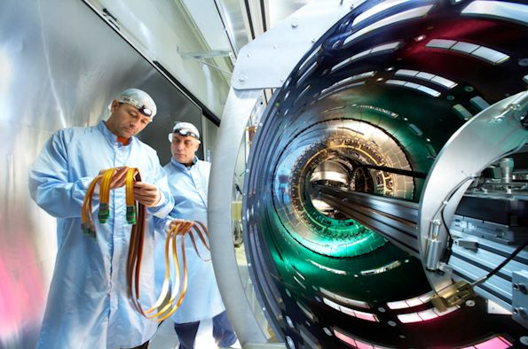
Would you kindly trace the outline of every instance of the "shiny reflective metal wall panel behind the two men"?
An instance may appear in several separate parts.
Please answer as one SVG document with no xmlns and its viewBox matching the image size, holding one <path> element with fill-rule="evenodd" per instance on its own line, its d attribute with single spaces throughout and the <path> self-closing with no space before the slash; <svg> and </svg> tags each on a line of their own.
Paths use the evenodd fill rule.
<svg viewBox="0 0 528 349">
<path fill-rule="evenodd" d="M 201 110 L 82 1 L 0 3 L 0 347 L 31 348 L 56 253 L 55 220 L 28 194 L 28 167 L 59 128 L 106 119 L 122 89 L 158 105 L 142 135 L 169 161 L 175 120 Z"/>
</svg>

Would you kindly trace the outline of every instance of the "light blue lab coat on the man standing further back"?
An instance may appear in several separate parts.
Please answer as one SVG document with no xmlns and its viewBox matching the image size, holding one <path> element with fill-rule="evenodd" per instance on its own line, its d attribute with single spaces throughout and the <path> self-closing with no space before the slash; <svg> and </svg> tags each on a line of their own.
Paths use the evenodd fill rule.
<svg viewBox="0 0 528 349">
<path fill-rule="evenodd" d="M 175 206 L 169 213 L 169 217 L 183 219 L 186 221 L 201 221 L 207 226 L 207 195 L 209 186 L 210 163 L 201 161 L 194 157 L 193 166 L 185 167 L 174 158 L 170 159 L 165 167 L 169 180 L 170 192 L 174 198 Z M 159 229 L 166 227 L 169 217 Z M 180 273 L 183 273 L 183 260 L 180 252 L 181 236 L 177 237 L 177 252 L 180 265 Z M 182 304 L 171 318 L 174 322 L 197 322 L 210 319 L 225 310 L 220 291 L 218 291 L 217 279 L 210 260 L 210 252 L 201 243 L 199 237 L 195 236 L 196 245 L 199 248 L 201 258 L 194 251 L 193 243 L 189 235 L 185 236 L 185 254 L 187 260 L 187 290 Z M 164 245 L 156 242 L 157 284 L 161 285 L 164 273 L 164 260 L 162 260 Z M 179 297 L 179 294 L 178 294 Z"/>
</svg>

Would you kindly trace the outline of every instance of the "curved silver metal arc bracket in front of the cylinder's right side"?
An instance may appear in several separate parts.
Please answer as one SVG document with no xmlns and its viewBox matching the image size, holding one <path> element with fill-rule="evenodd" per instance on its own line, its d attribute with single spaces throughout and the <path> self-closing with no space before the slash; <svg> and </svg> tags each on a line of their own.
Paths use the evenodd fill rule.
<svg viewBox="0 0 528 349">
<path fill-rule="evenodd" d="M 437 220 L 438 214 L 442 213 L 445 224 L 449 226 L 456 207 L 471 180 L 476 177 L 475 174 L 494 161 L 517 151 L 528 141 L 528 133 L 521 126 L 518 114 L 524 111 L 526 100 L 528 91 L 520 92 L 478 113 L 445 143 L 430 168 L 423 186 L 418 215 L 419 247 L 422 264 L 426 269 L 436 268 L 437 254 L 434 252 L 437 249 L 445 251 L 449 234 L 440 226 L 438 237 L 431 239 L 431 233 L 434 233 L 430 227 L 431 221 Z M 432 241 L 438 241 L 439 243 L 434 244 L 440 245 L 431 245 L 429 248 Z M 442 290 L 452 283 L 448 275 L 426 275 L 435 290 Z"/>
</svg>

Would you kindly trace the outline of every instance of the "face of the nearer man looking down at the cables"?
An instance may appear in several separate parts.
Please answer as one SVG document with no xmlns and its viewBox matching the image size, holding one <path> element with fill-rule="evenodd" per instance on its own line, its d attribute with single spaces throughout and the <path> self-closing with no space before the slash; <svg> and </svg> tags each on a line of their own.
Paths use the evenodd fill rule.
<svg viewBox="0 0 528 349">
<path fill-rule="evenodd" d="M 111 112 L 112 115 L 106 120 L 106 127 L 115 136 L 123 138 L 137 135 L 152 121 L 152 118 L 143 115 L 135 106 L 116 100 L 112 102 Z"/>
</svg>

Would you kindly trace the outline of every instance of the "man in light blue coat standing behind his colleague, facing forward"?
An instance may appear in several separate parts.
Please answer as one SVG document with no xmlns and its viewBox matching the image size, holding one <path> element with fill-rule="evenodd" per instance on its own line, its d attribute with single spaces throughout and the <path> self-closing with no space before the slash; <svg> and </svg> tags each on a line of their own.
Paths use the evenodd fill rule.
<svg viewBox="0 0 528 349">
<path fill-rule="evenodd" d="M 169 134 L 169 142 L 172 159 L 163 168 L 176 204 L 167 220 L 201 221 L 207 226 L 210 163 L 195 155 L 200 146 L 200 132 L 189 122 L 177 122 Z M 208 340 L 220 347 L 239 345 L 218 291 L 210 253 L 200 241 L 196 244 L 201 257 L 194 251 L 190 236 L 185 236 L 188 285 L 181 306 L 172 315 L 179 348 L 211 347 Z M 162 256 L 158 253 L 157 257 Z"/>
</svg>

